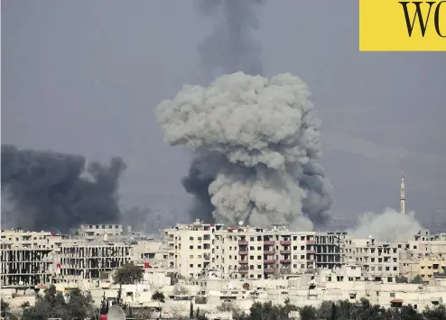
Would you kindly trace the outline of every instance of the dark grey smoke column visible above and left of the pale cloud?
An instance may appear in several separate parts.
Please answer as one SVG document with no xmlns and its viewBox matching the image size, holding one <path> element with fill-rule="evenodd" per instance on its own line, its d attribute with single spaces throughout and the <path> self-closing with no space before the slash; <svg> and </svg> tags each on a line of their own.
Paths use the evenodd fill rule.
<svg viewBox="0 0 446 320">
<path fill-rule="evenodd" d="M 205 83 L 220 75 L 242 71 L 247 75 L 263 75 L 260 61 L 261 46 L 253 32 L 259 27 L 256 10 L 263 0 L 200 0 L 200 14 L 215 23 L 209 37 L 200 43 L 200 56 Z M 228 165 L 221 154 L 206 150 L 194 151 L 189 174 L 181 179 L 188 193 L 195 197 L 190 208 L 195 218 L 213 222 L 215 207 L 210 202 L 209 184 L 219 167 Z"/>
</svg>

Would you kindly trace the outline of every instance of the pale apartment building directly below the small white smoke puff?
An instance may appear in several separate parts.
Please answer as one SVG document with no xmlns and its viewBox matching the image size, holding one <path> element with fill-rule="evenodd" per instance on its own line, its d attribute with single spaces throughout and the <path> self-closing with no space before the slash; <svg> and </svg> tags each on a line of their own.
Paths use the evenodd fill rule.
<svg viewBox="0 0 446 320">
<path fill-rule="evenodd" d="M 356 263 L 370 280 L 391 282 L 399 275 L 399 248 L 397 243 L 376 242 L 374 238 L 346 237 L 343 262 Z"/>
</svg>

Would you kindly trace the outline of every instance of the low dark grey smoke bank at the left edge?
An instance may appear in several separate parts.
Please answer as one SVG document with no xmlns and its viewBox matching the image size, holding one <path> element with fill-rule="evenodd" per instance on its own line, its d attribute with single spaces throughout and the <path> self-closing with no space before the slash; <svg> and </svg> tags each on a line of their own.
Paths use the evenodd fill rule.
<svg viewBox="0 0 446 320">
<path fill-rule="evenodd" d="M 120 158 L 86 164 L 82 156 L 2 145 L 2 193 L 14 220 L 30 230 L 66 232 L 79 224 L 119 221 Z"/>
</svg>

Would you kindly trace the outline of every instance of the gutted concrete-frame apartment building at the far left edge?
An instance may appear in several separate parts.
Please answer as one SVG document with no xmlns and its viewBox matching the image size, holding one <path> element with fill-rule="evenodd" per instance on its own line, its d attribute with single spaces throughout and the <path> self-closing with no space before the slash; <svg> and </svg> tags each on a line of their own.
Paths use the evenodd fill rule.
<svg viewBox="0 0 446 320">
<path fill-rule="evenodd" d="M 29 287 L 51 282 L 54 254 L 64 236 L 49 232 L 5 230 L 1 235 L 2 287 Z"/>
</svg>

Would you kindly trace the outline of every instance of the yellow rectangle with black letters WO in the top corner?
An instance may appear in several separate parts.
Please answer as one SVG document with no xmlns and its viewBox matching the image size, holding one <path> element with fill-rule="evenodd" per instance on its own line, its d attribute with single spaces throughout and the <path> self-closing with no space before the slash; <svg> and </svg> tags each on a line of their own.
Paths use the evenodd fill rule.
<svg viewBox="0 0 446 320">
<path fill-rule="evenodd" d="M 446 51 L 446 0 L 359 0 L 359 50 Z"/>
</svg>

